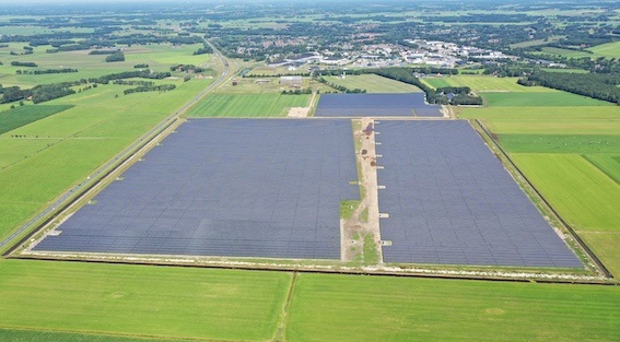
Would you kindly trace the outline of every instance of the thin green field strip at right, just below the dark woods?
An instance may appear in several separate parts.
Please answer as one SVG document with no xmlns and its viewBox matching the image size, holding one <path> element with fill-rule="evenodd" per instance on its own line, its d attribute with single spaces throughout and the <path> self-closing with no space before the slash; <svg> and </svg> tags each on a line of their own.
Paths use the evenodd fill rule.
<svg viewBox="0 0 620 342">
<path fill-rule="evenodd" d="M 491 107 L 612 106 L 613 104 L 566 92 L 482 93 Z"/>
</svg>

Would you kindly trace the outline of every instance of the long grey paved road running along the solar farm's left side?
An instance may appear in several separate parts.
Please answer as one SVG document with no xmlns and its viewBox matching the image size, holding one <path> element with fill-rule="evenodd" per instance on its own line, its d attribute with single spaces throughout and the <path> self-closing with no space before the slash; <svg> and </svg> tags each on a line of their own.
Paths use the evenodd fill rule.
<svg viewBox="0 0 620 342">
<path fill-rule="evenodd" d="M 189 102 L 187 102 L 180 108 L 178 108 L 175 113 L 173 113 L 167 118 L 165 118 L 162 122 L 160 122 L 157 126 L 155 126 L 149 132 L 147 132 L 147 134 L 142 135 L 139 140 L 133 142 L 127 149 L 122 150 L 122 152 L 117 154 L 113 160 L 110 160 L 109 162 L 102 165 L 100 168 L 97 168 L 95 172 L 93 172 L 89 177 L 86 177 L 86 179 L 82 180 L 79 185 L 74 186 L 73 188 L 71 188 L 68 191 L 66 191 L 65 193 L 62 193 L 56 201 L 54 201 L 50 205 L 48 205 L 44 211 L 42 211 L 36 216 L 32 217 L 28 222 L 26 222 L 17 231 L 15 231 L 9 237 L 7 237 L 2 241 L 0 241 L 0 249 L 2 249 L 4 246 L 9 245 L 9 243 L 11 243 L 11 240 L 13 240 L 15 237 L 20 236 L 22 233 L 28 231 L 34 224 L 39 222 L 43 217 L 50 215 L 54 211 L 56 211 L 56 209 L 63 207 L 63 204 L 66 204 L 66 201 L 68 201 L 68 199 L 71 196 L 73 196 L 74 193 L 80 193 L 83 190 L 87 189 L 87 187 L 91 185 L 92 180 L 98 179 L 100 177 L 104 176 L 107 172 L 109 172 L 109 169 L 113 166 L 116 166 L 116 164 L 118 164 L 120 161 L 125 161 L 132 153 L 134 153 L 136 150 L 138 150 L 141 145 L 145 144 L 148 141 L 150 141 L 150 140 L 156 138 L 159 134 L 161 134 L 164 131 L 164 129 L 167 126 L 169 126 L 172 122 L 177 120 L 178 117 L 182 114 L 184 114 L 187 109 L 189 109 L 191 106 L 194 106 L 200 99 L 202 99 L 202 97 L 204 97 L 207 94 L 209 94 L 215 87 L 218 87 L 220 84 L 222 84 L 222 82 L 224 82 L 229 78 L 229 73 L 231 71 L 230 70 L 231 68 L 230 68 L 230 63 L 229 63 L 229 60 L 226 59 L 226 57 L 224 57 L 224 55 L 222 55 L 220 52 L 220 50 L 218 50 L 218 48 L 213 44 L 211 44 L 211 42 L 209 42 L 204 38 L 202 38 L 202 39 L 204 40 L 204 43 L 207 45 L 209 45 L 213 49 L 213 55 L 215 55 L 218 58 L 220 58 L 222 60 L 222 63 L 224 64 L 224 71 L 222 72 L 222 74 L 213 83 L 209 84 L 209 86 L 207 86 L 202 92 L 200 92 L 200 94 L 196 95 L 194 98 L 191 98 Z"/>
</svg>

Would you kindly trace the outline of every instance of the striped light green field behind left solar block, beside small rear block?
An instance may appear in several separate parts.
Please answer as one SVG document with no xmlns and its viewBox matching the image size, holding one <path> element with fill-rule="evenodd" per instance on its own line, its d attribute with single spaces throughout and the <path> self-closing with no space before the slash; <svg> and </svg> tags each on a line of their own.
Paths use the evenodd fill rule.
<svg viewBox="0 0 620 342">
<path fill-rule="evenodd" d="M 188 117 L 285 117 L 291 107 L 307 107 L 312 95 L 211 94 Z"/>
</svg>

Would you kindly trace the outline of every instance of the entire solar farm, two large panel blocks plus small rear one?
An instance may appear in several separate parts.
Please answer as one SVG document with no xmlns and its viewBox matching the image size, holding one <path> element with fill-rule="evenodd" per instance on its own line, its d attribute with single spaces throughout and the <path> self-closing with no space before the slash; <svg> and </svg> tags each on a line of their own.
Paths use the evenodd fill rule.
<svg viewBox="0 0 620 342">
<path fill-rule="evenodd" d="M 364 189 L 384 262 L 583 269 L 467 121 L 412 113 L 441 115 L 420 93 L 328 94 L 311 119 L 190 119 L 30 252 L 339 261 L 340 204 L 363 200 L 339 117 L 376 114 L 396 117 Z"/>
</svg>

